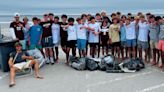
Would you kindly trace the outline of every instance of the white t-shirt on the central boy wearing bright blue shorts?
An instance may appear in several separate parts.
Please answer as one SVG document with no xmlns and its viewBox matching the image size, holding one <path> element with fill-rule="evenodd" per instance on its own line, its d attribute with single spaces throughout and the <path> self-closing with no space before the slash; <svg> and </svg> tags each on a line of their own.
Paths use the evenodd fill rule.
<svg viewBox="0 0 164 92">
<path fill-rule="evenodd" d="M 87 39 L 87 29 L 81 27 L 87 27 L 88 25 L 86 24 L 77 24 L 77 39 Z"/>
</svg>

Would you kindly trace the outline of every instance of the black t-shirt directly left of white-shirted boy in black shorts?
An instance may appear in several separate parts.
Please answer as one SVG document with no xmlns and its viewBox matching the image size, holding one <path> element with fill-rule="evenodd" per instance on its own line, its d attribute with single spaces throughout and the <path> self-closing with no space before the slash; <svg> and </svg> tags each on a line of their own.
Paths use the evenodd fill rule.
<svg viewBox="0 0 164 92">
<path fill-rule="evenodd" d="M 64 39 L 64 38 L 67 39 L 68 34 L 67 34 L 67 31 L 65 30 L 64 27 L 66 25 L 68 25 L 68 23 L 60 22 L 59 24 L 60 24 L 60 37 L 61 37 L 61 39 Z"/>
</svg>

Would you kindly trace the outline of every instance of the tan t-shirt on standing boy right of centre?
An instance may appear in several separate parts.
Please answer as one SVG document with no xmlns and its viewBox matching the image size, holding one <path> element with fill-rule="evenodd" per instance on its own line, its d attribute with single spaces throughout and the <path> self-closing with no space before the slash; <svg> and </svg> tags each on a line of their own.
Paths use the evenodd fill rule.
<svg viewBox="0 0 164 92">
<path fill-rule="evenodd" d="M 109 27 L 109 38 L 112 40 L 112 43 L 119 42 L 120 41 L 120 35 L 119 35 L 119 29 L 120 26 L 117 25 L 110 25 Z"/>
</svg>

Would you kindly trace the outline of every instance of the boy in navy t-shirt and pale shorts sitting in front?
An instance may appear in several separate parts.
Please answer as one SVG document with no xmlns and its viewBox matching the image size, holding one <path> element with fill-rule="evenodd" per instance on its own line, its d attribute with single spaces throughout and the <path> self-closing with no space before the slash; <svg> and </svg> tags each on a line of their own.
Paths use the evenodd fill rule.
<svg viewBox="0 0 164 92">
<path fill-rule="evenodd" d="M 32 56 L 25 51 L 22 51 L 22 44 L 19 42 L 15 43 L 16 52 L 10 54 L 9 67 L 10 67 L 10 85 L 9 87 L 15 86 L 15 72 L 21 69 L 28 68 L 34 65 L 35 77 L 38 79 L 43 79 L 39 75 L 39 64 L 36 62 Z"/>
</svg>

